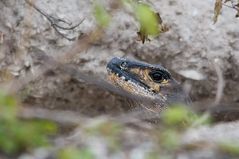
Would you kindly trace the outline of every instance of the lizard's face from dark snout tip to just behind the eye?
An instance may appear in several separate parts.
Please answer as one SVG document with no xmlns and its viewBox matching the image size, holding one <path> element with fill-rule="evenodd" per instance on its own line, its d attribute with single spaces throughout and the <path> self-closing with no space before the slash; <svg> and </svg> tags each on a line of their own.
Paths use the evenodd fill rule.
<svg viewBox="0 0 239 159">
<path fill-rule="evenodd" d="M 161 65 L 151 65 L 125 58 L 113 58 L 107 64 L 108 79 L 116 86 L 134 94 L 166 100 L 161 88 L 170 86 L 171 74 Z"/>
</svg>

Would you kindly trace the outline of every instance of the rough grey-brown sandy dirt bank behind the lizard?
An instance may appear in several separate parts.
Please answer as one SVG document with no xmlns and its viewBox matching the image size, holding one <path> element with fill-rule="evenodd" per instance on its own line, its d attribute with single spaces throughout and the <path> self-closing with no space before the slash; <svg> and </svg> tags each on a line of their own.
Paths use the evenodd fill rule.
<svg viewBox="0 0 239 159">
<path fill-rule="evenodd" d="M 92 3 L 35 1 L 39 8 L 54 17 L 74 24 L 84 19 L 73 32 L 61 30 L 71 37 L 87 34 L 96 27 Z M 104 3 L 107 6 L 109 2 Z M 215 67 L 219 66 L 225 81 L 221 103 L 238 107 L 239 21 L 234 17 L 235 12 L 223 7 L 218 22 L 213 24 L 213 0 L 151 0 L 150 3 L 170 27 L 168 32 L 142 44 L 137 40 L 139 26 L 132 14 L 116 9 L 102 39 L 77 53 L 69 63 L 102 79 L 106 77 L 106 63 L 114 56 L 162 64 L 199 106 L 214 102 L 218 88 Z M 24 77 L 29 71 L 34 73 L 39 64 L 32 62 L 29 48 L 36 47 L 54 57 L 74 44 L 74 41 L 60 36 L 49 21 L 24 0 L 0 1 L 0 15 L 1 82 Z M 115 115 L 131 109 L 128 101 L 120 95 L 57 71 L 47 72 L 22 92 L 23 101 L 28 105 L 71 110 L 89 116 Z"/>
</svg>

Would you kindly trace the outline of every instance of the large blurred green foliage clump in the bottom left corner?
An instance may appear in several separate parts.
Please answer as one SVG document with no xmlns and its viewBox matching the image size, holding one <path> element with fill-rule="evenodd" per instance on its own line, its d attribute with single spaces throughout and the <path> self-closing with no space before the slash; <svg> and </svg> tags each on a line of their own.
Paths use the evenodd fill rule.
<svg viewBox="0 0 239 159">
<path fill-rule="evenodd" d="M 17 100 L 0 93 L 0 151 L 16 154 L 49 144 L 47 135 L 54 134 L 56 125 L 47 121 L 20 120 Z"/>
</svg>

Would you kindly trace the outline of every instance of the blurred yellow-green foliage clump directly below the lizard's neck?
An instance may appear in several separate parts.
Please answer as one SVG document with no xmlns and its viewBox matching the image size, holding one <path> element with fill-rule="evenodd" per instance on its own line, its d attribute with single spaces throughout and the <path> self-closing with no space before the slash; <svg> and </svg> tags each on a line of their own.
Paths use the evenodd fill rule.
<svg viewBox="0 0 239 159">
<path fill-rule="evenodd" d="M 172 158 L 171 155 L 182 148 L 181 138 L 188 128 L 208 124 L 210 121 L 208 116 L 198 115 L 184 105 L 171 105 L 161 115 L 162 123 L 152 132 L 158 143 L 153 152 L 160 154 L 159 158 Z M 151 155 L 151 158 L 155 157 L 158 158 Z"/>
</svg>

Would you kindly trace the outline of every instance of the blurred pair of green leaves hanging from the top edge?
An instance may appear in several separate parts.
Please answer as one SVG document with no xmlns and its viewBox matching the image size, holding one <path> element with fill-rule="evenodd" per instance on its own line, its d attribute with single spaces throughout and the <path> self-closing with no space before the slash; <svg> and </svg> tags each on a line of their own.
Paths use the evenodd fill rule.
<svg viewBox="0 0 239 159">
<path fill-rule="evenodd" d="M 160 14 L 147 3 L 135 0 L 121 0 L 118 4 L 124 4 L 125 8 L 131 8 L 133 15 L 139 23 L 138 37 L 144 43 L 150 39 L 148 36 L 158 36 L 161 32 L 166 32 L 168 27 L 162 23 Z M 117 7 L 116 7 L 117 8 Z M 113 8 L 107 11 L 99 2 L 94 1 L 94 16 L 100 27 L 107 27 L 112 19 Z"/>
</svg>

